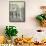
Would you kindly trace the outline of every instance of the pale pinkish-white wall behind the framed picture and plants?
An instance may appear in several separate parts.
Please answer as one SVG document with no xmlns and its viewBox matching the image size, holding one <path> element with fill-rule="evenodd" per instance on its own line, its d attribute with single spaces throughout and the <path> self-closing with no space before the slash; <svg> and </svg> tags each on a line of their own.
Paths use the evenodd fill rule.
<svg viewBox="0 0 46 46">
<path fill-rule="evenodd" d="M 41 13 L 42 5 L 46 5 L 46 0 L 25 0 L 25 22 L 9 22 L 9 0 L 0 0 L 0 33 L 4 33 L 6 25 L 16 26 L 18 36 L 31 36 L 31 32 L 35 33 L 36 29 L 42 29 L 35 20 L 35 16 Z"/>
</svg>

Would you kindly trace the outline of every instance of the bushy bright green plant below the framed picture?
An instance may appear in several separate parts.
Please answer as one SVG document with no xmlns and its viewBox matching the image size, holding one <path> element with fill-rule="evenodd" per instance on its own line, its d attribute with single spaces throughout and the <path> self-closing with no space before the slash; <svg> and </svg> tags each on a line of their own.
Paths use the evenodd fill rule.
<svg viewBox="0 0 46 46">
<path fill-rule="evenodd" d="M 6 26 L 5 34 L 8 36 L 8 38 L 11 38 L 12 36 L 16 36 L 18 31 L 15 26 Z"/>
</svg>

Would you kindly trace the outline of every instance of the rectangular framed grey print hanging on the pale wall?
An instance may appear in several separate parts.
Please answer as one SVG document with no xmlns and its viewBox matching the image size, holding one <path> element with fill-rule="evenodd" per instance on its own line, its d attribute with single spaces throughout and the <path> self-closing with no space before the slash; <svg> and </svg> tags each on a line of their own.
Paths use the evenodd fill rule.
<svg viewBox="0 0 46 46">
<path fill-rule="evenodd" d="M 9 1 L 9 21 L 24 22 L 25 21 L 25 2 Z"/>
</svg>

